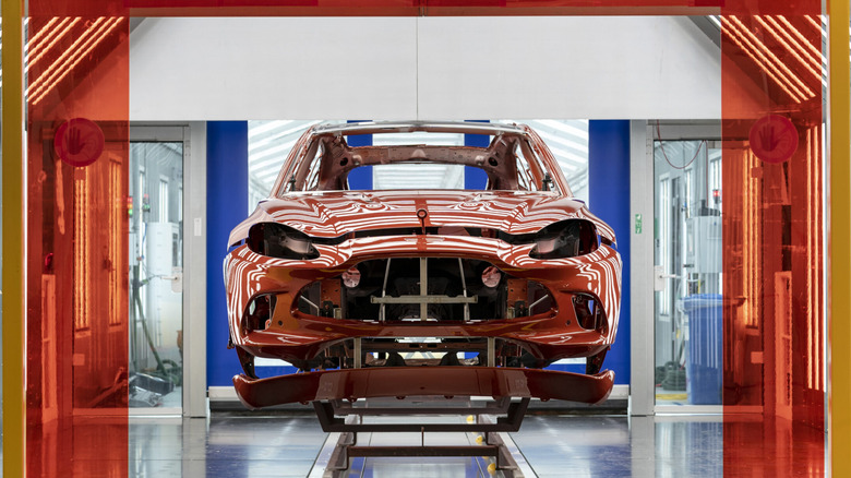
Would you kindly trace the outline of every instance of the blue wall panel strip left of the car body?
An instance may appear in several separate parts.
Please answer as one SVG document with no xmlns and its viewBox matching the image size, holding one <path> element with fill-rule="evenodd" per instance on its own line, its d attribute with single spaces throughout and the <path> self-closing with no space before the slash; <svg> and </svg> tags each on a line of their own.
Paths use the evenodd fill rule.
<svg viewBox="0 0 851 478">
<path fill-rule="evenodd" d="M 207 122 L 207 386 L 231 385 L 242 371 L 228 350 L 221 261 L 228 235 L 248 216 L 248 122 Z"/>
</svg>

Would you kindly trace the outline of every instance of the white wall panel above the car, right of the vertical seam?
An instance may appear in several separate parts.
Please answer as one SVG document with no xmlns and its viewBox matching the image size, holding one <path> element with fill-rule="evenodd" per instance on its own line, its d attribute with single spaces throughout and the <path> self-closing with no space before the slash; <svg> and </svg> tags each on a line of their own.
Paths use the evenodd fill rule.
<svg viewBox="0 0 851 478">
<path fill-rule="evenodd" d="M 421 19 L 419 112 L 721 117 L 720 51 L 687 17 Z"/>
</svg>

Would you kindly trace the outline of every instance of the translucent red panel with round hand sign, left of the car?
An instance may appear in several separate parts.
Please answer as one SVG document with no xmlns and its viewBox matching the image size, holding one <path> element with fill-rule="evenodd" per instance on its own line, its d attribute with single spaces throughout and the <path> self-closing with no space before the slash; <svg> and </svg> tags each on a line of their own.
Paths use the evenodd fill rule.
<svg viewBox="0 0 851 478">
<path fill-rule="evenodd" d="M 129 19 L 35 7 L 24 86 L 26 470 L 127 476 Z"/>
</svg>

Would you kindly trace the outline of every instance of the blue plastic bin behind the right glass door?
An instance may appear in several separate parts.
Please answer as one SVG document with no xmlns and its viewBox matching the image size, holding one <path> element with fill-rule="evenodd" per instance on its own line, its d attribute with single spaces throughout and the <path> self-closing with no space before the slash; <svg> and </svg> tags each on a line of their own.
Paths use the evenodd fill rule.
<svg viewBox="0 0 851 478">
<path fill-rule="evenodd" d="M 697 294 L 682 299 L 688 315 L 685 375 L 691 405 L 721 405 L 722 302 L 720 294 Z"/>
</svg>

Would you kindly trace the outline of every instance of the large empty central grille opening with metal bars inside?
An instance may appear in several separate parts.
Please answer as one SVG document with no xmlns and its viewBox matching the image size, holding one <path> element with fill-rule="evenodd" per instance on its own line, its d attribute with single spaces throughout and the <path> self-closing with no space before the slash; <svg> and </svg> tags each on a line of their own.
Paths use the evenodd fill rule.
<svg viewBox="0 0 851 478">
<path fill-rule="evenodd" d="M 511 277 L 487 261 L 382 259 L 356 267 L 353 287 L 346 286 L 343 275 L 317 280 L 299 292 L 295 307 L 337 319 L 460 322 L 528 316 L 555 304 L 541 284 Z"/>
</svg>

